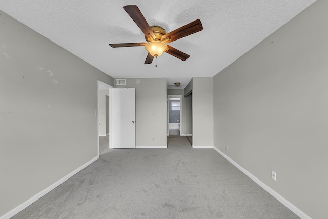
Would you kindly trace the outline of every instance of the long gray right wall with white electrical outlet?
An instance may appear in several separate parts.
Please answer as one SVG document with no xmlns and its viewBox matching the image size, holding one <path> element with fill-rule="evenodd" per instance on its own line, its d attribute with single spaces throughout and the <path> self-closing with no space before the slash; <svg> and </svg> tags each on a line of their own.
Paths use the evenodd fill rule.
<svg viewBox="0 0 328 219">
<path fill-rule="evenodd" d="M 318 0 L 214 77 L 214 146 L 312 218 L 328 218 L 327 8 Z"/>
</svg>

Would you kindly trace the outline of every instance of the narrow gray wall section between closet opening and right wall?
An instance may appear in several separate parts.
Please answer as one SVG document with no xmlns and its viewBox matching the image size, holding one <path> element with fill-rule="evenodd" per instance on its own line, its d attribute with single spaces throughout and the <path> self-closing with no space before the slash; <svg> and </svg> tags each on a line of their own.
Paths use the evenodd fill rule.
<svg viewBox="0 0 328 219">
<path fill-rule="evenodd" d="M 213 77 L 194 77 L 192 86 L 193 146 L 213 147 Z"/>
</svg>

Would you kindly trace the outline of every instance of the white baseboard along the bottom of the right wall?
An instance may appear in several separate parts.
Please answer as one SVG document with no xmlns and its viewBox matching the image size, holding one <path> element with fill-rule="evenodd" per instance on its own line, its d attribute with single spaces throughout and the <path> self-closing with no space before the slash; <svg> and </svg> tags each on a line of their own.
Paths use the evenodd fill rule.
<svg viewBox="0 0 328 219">
<path fill-rule="evenodd" d="M 293 211 L 297 216 L 299 216 L 302 219 L 311 219 L 308 215 L 306 215 L 303 211 L 298 209 L 296 206 L 294 206 L 292 203 L 287 201 L 284 197 L 279 195 L 276 191 L 271 189 L 269 186 L 265 185 L 262 181 L 260 181 L 258 178 L 256 178 L 252 173 L 244 169 L 242 166 L 237 164 L 234 160 L 232 160 L 229 156 L 224 154 L 222 151 L 217 149 L 216 147 L 213 147 L 214 150 L 216 150 L 219 154 L 221 154 L 224 158 L 226 158 L 230 163 L 232 163 L 235 167 L 237 167 L 241 172 L 243 172 L 245 175 L 251 178 L 255 183 L 257 183 L 260 187 L 262 187 L 265 191 L 269 192 L 272 196 L 274 196 L 279 202 L 281 202 L 284 206 L 289 208 L 291 211 Z"/>
</svg>

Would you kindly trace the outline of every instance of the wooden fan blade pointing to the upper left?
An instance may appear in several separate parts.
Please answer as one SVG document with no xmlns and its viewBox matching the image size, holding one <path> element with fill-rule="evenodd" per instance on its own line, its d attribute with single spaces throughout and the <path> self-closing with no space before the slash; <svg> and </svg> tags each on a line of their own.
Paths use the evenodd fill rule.
<svg viewBox="0 0 328 219">
<path fill-rule="evenodd" d="M 153 37 L 153 39 L 156 38 L 154 32 L 150 28 L 149 24 L 147 23 L 144 15 L 142 15 L 142 13 L 139 10 L 138 6 L 136 6 L 136 5 L 126 5 L 123 8 L 130 15 L 130 17 L 133 19 L 133 21 L 138 25 L 140 30 L 142 32 L 144 32 L 144 34 L 146 36 L 148 36 L 150 34 Z"/>
</svg>

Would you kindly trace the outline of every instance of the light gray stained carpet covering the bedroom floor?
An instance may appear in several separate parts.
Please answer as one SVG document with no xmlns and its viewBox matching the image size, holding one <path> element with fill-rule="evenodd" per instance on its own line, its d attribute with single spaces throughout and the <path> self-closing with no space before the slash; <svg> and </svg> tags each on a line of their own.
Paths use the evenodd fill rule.
<svg viewBox="0 0 328 219">
<path fill-rule="evenodd" d="M 298 218 L 213 149 L 111 149 L 13 218 Z"/>
</svg>

